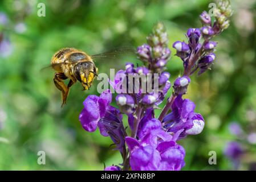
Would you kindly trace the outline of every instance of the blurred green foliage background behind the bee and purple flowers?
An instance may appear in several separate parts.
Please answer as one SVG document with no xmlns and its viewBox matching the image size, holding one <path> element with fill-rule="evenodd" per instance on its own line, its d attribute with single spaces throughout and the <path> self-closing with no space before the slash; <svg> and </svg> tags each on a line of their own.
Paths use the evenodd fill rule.
<svg viewBox="0 0 256 182">
<path fill-rule="evenodd" d="M 37 15 L 38 3 L 46 16 Z M 198 15 L 213 1 L 11 1 L 0 2 L 0 169 L 1 170 L 101 170 L 104 163 L 121 163 L 119 152 L 109 149 L 111 139 L 99 131 L 82 129 L 78 116 L 88 94 L 75 84 L 67 105 L 60 107 L 60 92 L 54 86 L 54 71 L 41 68 L 63 47 L 83 49 L 93 55 L 123 46 L 145 43 L 157 21 L 164 22 L 170 47 L 185 40 L 189 27 L 200 27 Z M 256 1 L 231 1 L 231 25 L 218 36 L 217 59 L 212 71 L 193 76 L 190 100 L 205 118 L 205 129 L 180 140 L 186 150 L 186 170 L 233 169 L 223 155 L 226 142 L 238 140 L 228 130 L 238 122 L 245 133 L 256 131 Z M 171 81 L 182 72 L 182 61 L 168 62 Z M 100 72 L 124 67 L 135 58 L 96 62 Z M 95 83 L 96 85 L 96 83 Z M 170 95 L 169 91 L 169 95 Z M 162 107 L 163 105 L 161 105 Z M 126 118 L 125 118 L 126 119 Z M 246 154 L 239 169 L 256 162 L 256 144 L 239 138 Z M 46 152 L 46 165 L 39 165 L 38 151 Z M 209 151 L 217 152 L 217 164 L 209 165 Z"/>
</svg>

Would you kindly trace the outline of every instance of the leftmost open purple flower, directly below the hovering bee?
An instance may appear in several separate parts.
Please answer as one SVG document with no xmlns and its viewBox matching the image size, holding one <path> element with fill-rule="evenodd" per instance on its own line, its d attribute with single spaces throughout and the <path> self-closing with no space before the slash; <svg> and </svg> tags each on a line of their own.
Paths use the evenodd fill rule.
<svg viewBox="0 0 256 182">
<path fill-rule="evenodd" d="M 84 109 L 79 115 L 82 127 L 86 131 L 93 132 L 96 130 L 100 118 L 104 117 L 105 111 L 109 108 L 112 100 L 112 94 L 109 90 L 105 90 L 98 96 L 88 96 L 84 100 Z"/>
</svg>

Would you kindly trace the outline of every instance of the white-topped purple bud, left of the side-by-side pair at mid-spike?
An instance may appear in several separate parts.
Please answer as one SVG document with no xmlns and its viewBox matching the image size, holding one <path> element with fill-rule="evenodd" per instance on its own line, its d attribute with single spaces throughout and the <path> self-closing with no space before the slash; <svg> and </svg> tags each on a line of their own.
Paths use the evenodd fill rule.
<svg viewBox="0 0 256 182">
<path fill-rule="evenodd" d="M 119 94 L 116 96 L 116 104 L 119 105 L 121 112 L 125 114 L 133 113 L 133 107 L 135 106 L 135 101 L 133 97 L 128 94 Z"/>
</svg>

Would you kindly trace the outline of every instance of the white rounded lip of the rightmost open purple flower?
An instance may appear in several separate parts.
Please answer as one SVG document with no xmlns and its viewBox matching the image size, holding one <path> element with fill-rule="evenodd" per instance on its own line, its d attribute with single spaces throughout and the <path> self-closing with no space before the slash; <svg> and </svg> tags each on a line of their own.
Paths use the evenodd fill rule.
<svg viewBox="0 0 256 182">
<path fill-rule="evenodd" d="M 198 135 L 202 132 L 205 126 L 204 118 L 202 118 L 201 114 L 194 114 L 191 118 L 193 122 L 192 128 L 185 131 L 188 135 Z"/>
</svg>

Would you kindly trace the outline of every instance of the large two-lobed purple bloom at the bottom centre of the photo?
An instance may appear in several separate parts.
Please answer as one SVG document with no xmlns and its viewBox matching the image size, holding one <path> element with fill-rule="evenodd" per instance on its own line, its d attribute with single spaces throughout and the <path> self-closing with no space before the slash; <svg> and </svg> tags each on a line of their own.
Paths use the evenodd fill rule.
<svg viewBox="0 0 256 182">
<path fill-rule="evenodd" d="M 174 141 L 161 142 L 157 147 L 141 144 L 134 138 L 125 141 L 130 155 L 130 165 L 135 171 L 180 170 L 184 165 L 185 150 Z"/>
</svg>

